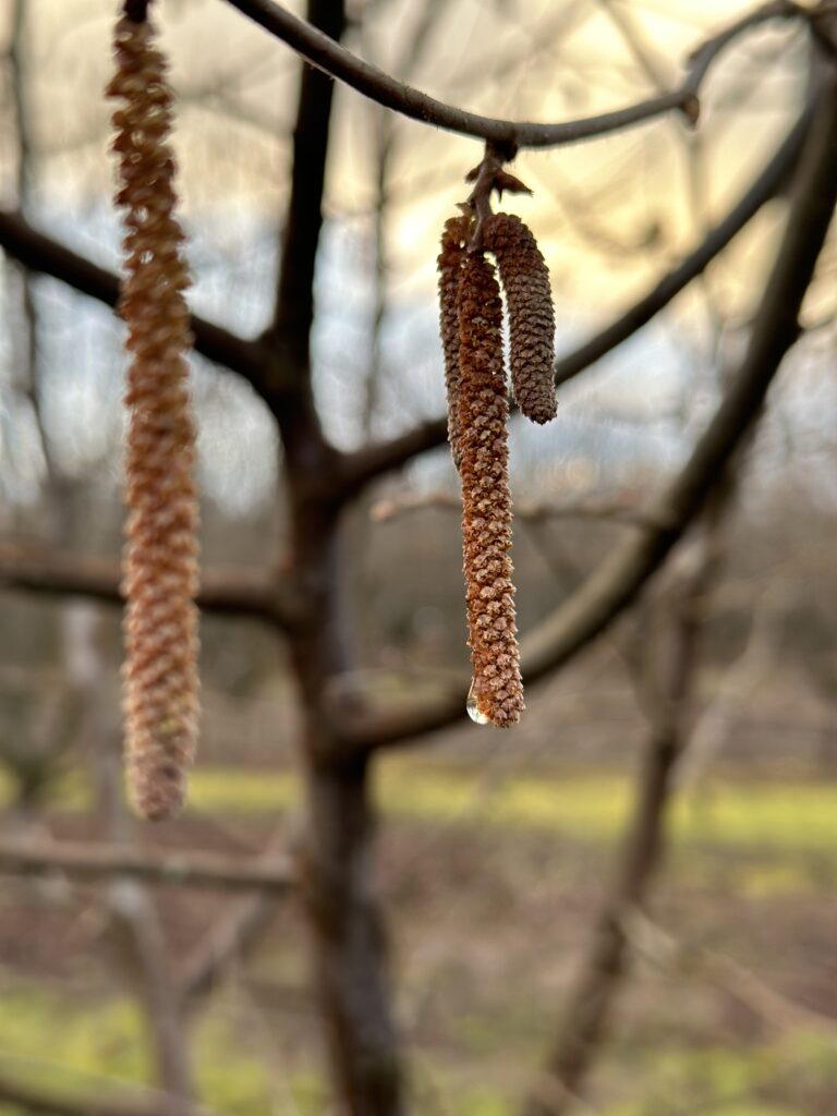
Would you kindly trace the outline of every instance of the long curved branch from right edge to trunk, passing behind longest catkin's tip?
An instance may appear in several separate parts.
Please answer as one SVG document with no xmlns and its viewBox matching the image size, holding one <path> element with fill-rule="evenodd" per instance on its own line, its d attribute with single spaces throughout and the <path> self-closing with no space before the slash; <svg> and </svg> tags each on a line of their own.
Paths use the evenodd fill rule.
<svg viewBox="0 0 837 1116">
<path fill-rule="evenodd" d="M 536 682 L 567 663 L 637 596 L 703 507 L 764 403 L 785 354 L 837 200 L 837 96 L 829 70 L 796 179 L 782 242 L 757 312 L 747 354 L 691 458 L 652 508 L 655 528 L 616 548 L 551 617 L 522 641 L 522 670 Z M 464 685 L 435 701 L 387 712 L 341 711 L 344 756 L 356 757 L 437 731 L 464 715 Z"/>
</svg>

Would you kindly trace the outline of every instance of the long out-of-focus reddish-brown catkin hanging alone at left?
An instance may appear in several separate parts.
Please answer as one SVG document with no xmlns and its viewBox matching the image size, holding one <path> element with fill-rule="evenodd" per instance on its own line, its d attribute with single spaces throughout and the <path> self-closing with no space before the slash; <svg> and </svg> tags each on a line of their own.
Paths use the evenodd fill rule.
<svg viewBox="0 0 837 1116">
<path fill-rule="evenodd" d="M 125 403 L 125 750 L 129 795 L 151 820 L 185 797 L 198 730 L 198 499 L 185 353 L 183 232 L 173 215 L 174 160 L 165 138 L 172 95 L 146 21 L 116 25 L 107 94 L 119 157 L 116 203 L 127 209 L 121 312 L 133 355 Z"/>
</svg>

